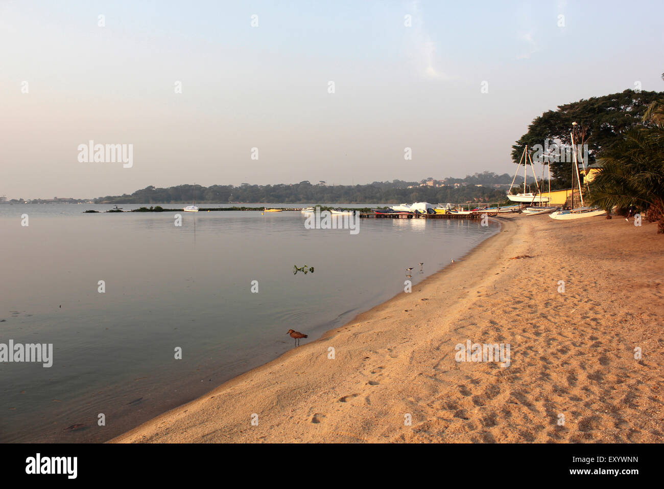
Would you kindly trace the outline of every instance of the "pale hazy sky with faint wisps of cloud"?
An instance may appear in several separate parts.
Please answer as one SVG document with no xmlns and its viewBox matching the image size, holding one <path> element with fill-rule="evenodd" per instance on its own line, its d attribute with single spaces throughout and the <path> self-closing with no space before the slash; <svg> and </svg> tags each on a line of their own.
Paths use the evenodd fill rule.
<svg viewBox="0 0 664 489">
<path fill-rule="evenodd" d="M 513 174 L 542 112 L 664 91 L 663 19 L 659 0 L 0 0 L 0 196 Z M 86 161 L 90 140 L 131 166 Z"/>
</svg>

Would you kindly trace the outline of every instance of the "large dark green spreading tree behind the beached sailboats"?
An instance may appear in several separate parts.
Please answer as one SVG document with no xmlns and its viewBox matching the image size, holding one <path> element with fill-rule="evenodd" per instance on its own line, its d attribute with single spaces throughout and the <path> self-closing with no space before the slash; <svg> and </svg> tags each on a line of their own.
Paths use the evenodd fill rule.
<svg viewBox="0 0 664 489">
<path fill-rule="evenodd" d="M 554 140 L 570 145 L 572 122 L 577 122 L 575 142 L 582 147 L 588 144 L 588 161 L 584 161 L 588 166 L 602 156 L 602 152 L 620 142 L 627 130 L 640 126 L 648 106 L 662 95 L 662 92 L 625 90 L 559 105 L 557 110 L 548 110 L 533 120 L 528 132 L 512 146 L 512 160 L 519 162 L 526 144 L 529 151 L 537 144 L 544 146 L 547 142 L 550 145 Z M 550 162 L 551 176 L 556 180 L 554 186 L 569 188 L 572 186 L 572 167 L 565 158 L 558 159 L 563 161 Z"/>
</svg>

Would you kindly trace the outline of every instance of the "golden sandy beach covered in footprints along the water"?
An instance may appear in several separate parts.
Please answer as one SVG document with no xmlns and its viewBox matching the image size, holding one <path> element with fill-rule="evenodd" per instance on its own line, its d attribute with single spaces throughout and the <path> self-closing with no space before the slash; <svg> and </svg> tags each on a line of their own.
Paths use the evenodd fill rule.
<svg viewBox="0 0 664 489">
<path fill-rule="evenodd" d="M 662 442 L 664 236 L 501 222 L 412 293 L 112 442 Z M 467 340 L 509 343 L 509 367 L 456 361 Z"/>
</svg>

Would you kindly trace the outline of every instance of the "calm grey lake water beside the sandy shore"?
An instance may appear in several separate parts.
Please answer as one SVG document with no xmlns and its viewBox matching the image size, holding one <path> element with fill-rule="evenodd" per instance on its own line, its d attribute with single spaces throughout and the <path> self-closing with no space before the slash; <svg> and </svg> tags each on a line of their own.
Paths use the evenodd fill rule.
<svg viewBox="0 0 664 489">
<path fill-rule="evenodd" d="M 402 292 L 406 267 L 417 283 L 499 229 L 368 219 L 351 235 L 307 230 L 299 212 L 182 212 L 181 227 L 175 212 L 82 214 L 112 207 L 0 205 L 0 343 L 53 344 L 50 368 L 0 363 L 1 442 L 108 440 L 288 351 L 288 329 L 317 339 Z M 314 273 L 293 275 L 305 264 Z"/>
</svg>

